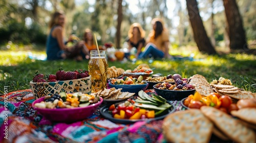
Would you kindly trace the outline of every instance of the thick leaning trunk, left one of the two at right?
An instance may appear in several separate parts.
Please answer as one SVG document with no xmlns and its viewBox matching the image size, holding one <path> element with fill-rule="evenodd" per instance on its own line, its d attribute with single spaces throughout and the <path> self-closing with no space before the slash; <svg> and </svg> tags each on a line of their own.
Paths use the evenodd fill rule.
<svg viewBox="0 0 256 143">
<path fill-rule="evenodd" d="M 186 0 L 186 3 L 190 24 L 194 33 L 194 39 L 197 43 L 199 51 L 207 53 L 209 55 L 216 54 L 216 51 L 212 46 L 210 39 L 208 38 L 204 29 L 203 21 L 199 14 L 197 1 Z"/>
</svg>

